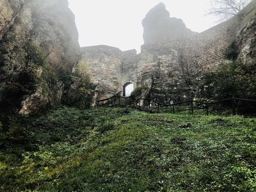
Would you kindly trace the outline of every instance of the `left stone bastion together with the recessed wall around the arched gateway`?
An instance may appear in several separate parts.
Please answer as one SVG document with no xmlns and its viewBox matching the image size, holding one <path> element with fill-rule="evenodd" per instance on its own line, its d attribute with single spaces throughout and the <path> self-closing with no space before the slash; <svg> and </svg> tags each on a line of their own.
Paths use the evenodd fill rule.
<svg viewBox="0 0 256 192">
<path fill-rule="evenodd" d="M 106 45 L 82 47 L 77 56 L 74 70 L 87 66 L 91 82 L 102 87 L 101 99 L 123 91 L 123 85 L 132 82 L 136 87 L 137 51 L 121 51 Z"/>
</svg>

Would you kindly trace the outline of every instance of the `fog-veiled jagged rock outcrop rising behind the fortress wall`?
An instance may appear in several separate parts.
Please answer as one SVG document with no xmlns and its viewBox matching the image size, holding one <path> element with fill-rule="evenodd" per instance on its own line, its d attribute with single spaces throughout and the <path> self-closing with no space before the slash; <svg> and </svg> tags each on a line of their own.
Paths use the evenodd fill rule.
<svg viewBox="0 0 256 192">
<path fill-rule="evenodd" d="M 198 34 L 186 28 L 182 19 L 170 18 L 170 13 L 163 3 L 159 3 L 142 20 L 144 44 L 186 39 Z"/>
</svg>

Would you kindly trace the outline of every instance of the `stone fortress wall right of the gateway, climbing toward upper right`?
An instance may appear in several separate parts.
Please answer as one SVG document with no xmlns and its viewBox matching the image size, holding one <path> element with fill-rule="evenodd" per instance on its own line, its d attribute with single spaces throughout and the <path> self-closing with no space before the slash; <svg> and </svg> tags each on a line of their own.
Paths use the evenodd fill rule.
<svg viewBox="0 0 256 192">
<path fill-rule="evenodd" d="M 179 78 L 174 70 L 180 62 L 181 48 L 185 58 L 197 62 L 199 72 L 216 68 L 228 61 L 227 51 L 235 41 L 238 25 L 238 20 L 232 18 L 189 39 L 142 45 L 138 76 L 153 71 L 154 87 L 168 89 L 166 83 L 174 84 Z"/>
</svg>

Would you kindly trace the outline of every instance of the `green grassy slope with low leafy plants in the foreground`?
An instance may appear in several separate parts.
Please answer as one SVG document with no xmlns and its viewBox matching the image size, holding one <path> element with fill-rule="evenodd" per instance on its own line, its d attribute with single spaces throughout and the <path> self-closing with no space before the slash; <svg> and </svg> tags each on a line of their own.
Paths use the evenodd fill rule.
<svg viewBox="0 0 256 192">
<path fill-rule="evenodd" d="M 196 114 L 5 115 L 0 191 L 256 191 L 256 118 Z"/>
</svg>

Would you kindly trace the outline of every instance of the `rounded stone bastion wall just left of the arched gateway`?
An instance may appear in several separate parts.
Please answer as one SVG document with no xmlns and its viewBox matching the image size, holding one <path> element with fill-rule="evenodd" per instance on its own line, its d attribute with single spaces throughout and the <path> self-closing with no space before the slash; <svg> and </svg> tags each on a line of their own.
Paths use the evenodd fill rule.
<svg viewBox="0 0 256 192">
<path fill-rule="evenodd" d="M 91 81 L 103 87 L 101 99 L 121 91 L 122 57 L 120 49 L 106 45 L 80 49 L 76 65 L 88 65 Z"/>
</svg>

